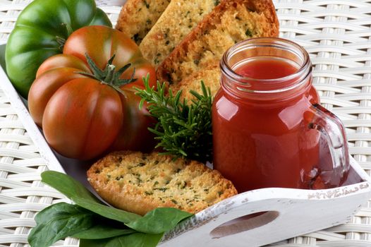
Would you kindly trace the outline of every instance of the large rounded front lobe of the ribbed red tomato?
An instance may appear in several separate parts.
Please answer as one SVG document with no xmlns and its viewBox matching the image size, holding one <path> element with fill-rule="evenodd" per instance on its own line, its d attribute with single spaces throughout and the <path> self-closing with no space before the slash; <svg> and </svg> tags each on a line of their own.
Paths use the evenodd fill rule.
<svg viewBox="0 0 371 247">
<path fill-rule="evenodd" d="M 44 135 L 61 155 L 92 159 L 116 139 L 122 112 L 121 99 L 113 88 L 90 78 L 70 80 L 45 107 Z"/>
</svg>

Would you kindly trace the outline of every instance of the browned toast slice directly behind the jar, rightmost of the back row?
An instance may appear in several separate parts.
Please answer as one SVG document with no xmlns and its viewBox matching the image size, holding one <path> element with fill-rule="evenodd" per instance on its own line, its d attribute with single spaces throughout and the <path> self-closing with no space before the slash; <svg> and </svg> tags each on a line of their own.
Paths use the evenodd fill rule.
<svg viewBox="0 0 371 247">
<path fill-rule="evenodd" d="M 271 0 L 224 0 L 206 16 L 157 68 L 157 78 L 180 83 L 220 60 L 236 42 L 276 37 L 279 22 Z"/>
</svg>

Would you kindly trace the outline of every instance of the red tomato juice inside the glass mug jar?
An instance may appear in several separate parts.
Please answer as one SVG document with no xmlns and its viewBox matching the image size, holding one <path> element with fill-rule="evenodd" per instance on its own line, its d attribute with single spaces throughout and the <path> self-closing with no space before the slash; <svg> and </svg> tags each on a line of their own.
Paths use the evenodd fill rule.
<svg viewBox="0 0 371 247">
<path fill-rule="evenodd" d="M 267 80 L 290 76 L 298 67 L 285 59 L 264 57 L 249 59 L 233 71 L 245 78 Z M 291 82 L 281 84 L 288 87 Z M 257 83 L 251 83 L 252 90 Z M 214 168 L 239 193 L 266 187 L 311 188 L 319 173 L 320 141 L 320 133 L 307 127 L 312 116 L 307 110 L 318 102 L 311 82 L 294 96 L 288 92 L 263 93 L 262 98 L 255 95 L 253 99 L 240 96 L 224 88 L 215 97 Z"/>
</svg>

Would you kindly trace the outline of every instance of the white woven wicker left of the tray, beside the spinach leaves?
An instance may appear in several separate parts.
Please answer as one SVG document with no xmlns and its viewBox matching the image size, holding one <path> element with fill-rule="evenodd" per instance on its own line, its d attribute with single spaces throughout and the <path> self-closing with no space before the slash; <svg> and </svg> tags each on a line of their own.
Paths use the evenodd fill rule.
<svg viewBox="0 0 371 247">
<path fill-rule="evenodd" d="M 3 90 L 0 90 L 0 246 L 28 246 L 28 232 L 35 226 L 36 212 L 64 196 L 40 182 L 47 170 Z M 76 246 L 76 239 L 58 246 Z"/>
</svg>

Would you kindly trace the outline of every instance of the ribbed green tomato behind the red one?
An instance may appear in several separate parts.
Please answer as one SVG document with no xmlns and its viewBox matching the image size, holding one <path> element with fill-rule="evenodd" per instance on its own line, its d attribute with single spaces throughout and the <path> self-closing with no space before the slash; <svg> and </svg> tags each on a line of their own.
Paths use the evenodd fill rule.
<svg viewBox="0 0 371 247">
<path fill-rule="evenodd" d="M 35 0 L 20 13 L 5 52 L 6 73 L 20 95 L 27 99 L 37 68 L 87 25 L 112 26 L 94 0 Z"/>
</svg>

